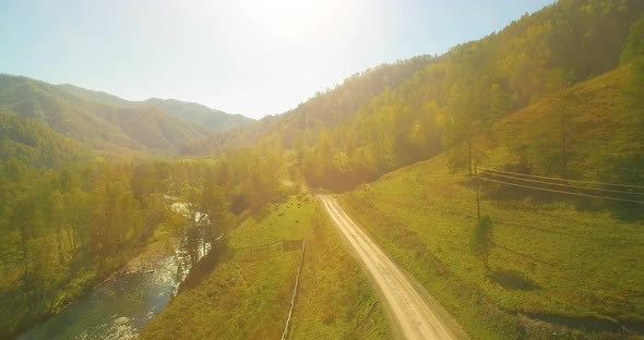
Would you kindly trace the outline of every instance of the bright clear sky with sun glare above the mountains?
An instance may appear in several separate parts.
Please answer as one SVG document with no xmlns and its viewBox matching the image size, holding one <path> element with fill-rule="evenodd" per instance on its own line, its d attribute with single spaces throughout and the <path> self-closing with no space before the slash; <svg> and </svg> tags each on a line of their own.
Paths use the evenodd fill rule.
<svg viewBox="0 0 644 340">
<path fill-rule="evenodd" d="M 552 0 L 0 0 L 0 73 L 253 118 Z"/>
</svg>

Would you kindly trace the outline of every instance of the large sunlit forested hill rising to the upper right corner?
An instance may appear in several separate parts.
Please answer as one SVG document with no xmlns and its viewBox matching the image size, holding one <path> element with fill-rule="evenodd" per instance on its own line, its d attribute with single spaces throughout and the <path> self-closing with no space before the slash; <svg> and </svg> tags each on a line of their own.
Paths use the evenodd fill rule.
<svg viewBox="0 0 644 340">
<path fill-rule="evenodd" d="M 309 183 L 353 186 L 462 148 L 475 130 L 616 69 L 643 13 L 639 0 L 561 0 L 441 57 L 365 72 L 290 112 L 183 150 L 261 141 L 293 149 Z M 368 87 L 393 74 L 395 82 Z"/>
</svg>

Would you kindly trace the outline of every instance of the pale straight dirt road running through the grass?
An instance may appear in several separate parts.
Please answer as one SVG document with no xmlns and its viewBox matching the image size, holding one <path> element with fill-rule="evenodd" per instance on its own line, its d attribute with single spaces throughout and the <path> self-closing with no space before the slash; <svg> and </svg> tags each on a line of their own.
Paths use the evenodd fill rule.
<svg viewBox="0 0 644 340">
<path fill-rule="evenodd" d="M 335 198 L 320 195 L 322 205 L 365 263 L 398 328 L 406 339 L 464 339 L 467 336 L 455 321 L 445 321 L 444 313 L 430 307 L 398 267 L 354 223 Z"/>
</svg>

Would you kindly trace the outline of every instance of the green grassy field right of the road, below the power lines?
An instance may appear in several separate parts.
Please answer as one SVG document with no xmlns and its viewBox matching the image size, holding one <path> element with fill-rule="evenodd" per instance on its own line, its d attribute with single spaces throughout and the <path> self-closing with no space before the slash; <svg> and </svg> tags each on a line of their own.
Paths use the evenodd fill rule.
<svg viewBox="0 0 644 340">
<path fill-rule="evenodd" d="M 443 157 L 341 196 L 473 339 L 641 337 L 644 226 L 565 203 L 491 199 L 490 271 L 472 251 L 476 194 Z M 622 327 L 631 329 L 628 332 Z"/>
</svg>

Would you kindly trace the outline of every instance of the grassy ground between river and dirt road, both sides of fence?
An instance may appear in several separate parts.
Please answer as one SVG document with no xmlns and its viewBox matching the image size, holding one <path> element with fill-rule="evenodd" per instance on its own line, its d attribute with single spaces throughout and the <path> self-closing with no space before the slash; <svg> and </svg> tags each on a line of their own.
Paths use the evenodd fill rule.
<svg viewBox="0 0 644 340">
<path fill-rule="evenodd" d="M 391 338 L 375 293 L 332 228 L 312 196 L 294 196 L 259 219 L 248 218 L 230 233 L 229 245 L 306 240 L 290 338 Z M 141 338 L 278 339 L 299 259 L 299 250 L 240 251 L 175 298 Z"/>
</svg>

